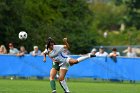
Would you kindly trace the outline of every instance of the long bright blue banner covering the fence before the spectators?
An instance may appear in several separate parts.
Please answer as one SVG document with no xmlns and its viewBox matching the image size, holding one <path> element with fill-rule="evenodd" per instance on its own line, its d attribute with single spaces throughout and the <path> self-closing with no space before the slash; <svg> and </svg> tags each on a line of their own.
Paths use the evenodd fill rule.
<svg viewBox="0 0 140 93">
<path fill-rule="evenodd" d="M 79 56 L 71 56 L 78 58 Z M 0 76 L 43 76 L 49 77 L 52 61 L 43 56 L 0 55 Z M 114 61 L 109 57 L 89 58 L 69 68 L 69 78 L 102 78 L 119 80 L 140 80 L 140 58 L 117 57 Z"/>
</svg>

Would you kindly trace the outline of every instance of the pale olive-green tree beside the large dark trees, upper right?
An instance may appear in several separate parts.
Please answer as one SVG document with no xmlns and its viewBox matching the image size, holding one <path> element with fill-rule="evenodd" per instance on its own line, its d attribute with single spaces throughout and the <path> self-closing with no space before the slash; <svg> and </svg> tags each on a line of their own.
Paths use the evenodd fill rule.
<svg viewBox="0 0 140 93">
<path fill-rule="evenodd" d="M 100 30 L 118 30 L 126 13 L 125 6 L 115 6 L 111 3 L 93 3 L 91 10 L 94 12 L 94 25 Z"/>
</svg>

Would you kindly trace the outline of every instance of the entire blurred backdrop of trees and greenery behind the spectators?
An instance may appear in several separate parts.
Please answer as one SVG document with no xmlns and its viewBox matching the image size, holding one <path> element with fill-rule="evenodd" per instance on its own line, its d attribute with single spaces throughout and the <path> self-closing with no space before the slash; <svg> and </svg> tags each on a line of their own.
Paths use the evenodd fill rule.
<svg viewBox="0 0 140 93">
<path fill-rule="evenodd" d="M 139 0 L 1 0 L 0 7 L 0 44 L 7 48 L 13 42 L 44 50 L 49 36 L 57 44 L 67 37 L 73 54 L 100 45 L 140 47 Z M 20 31 L 27 40 L 18 39 Z"/>
</svg>

